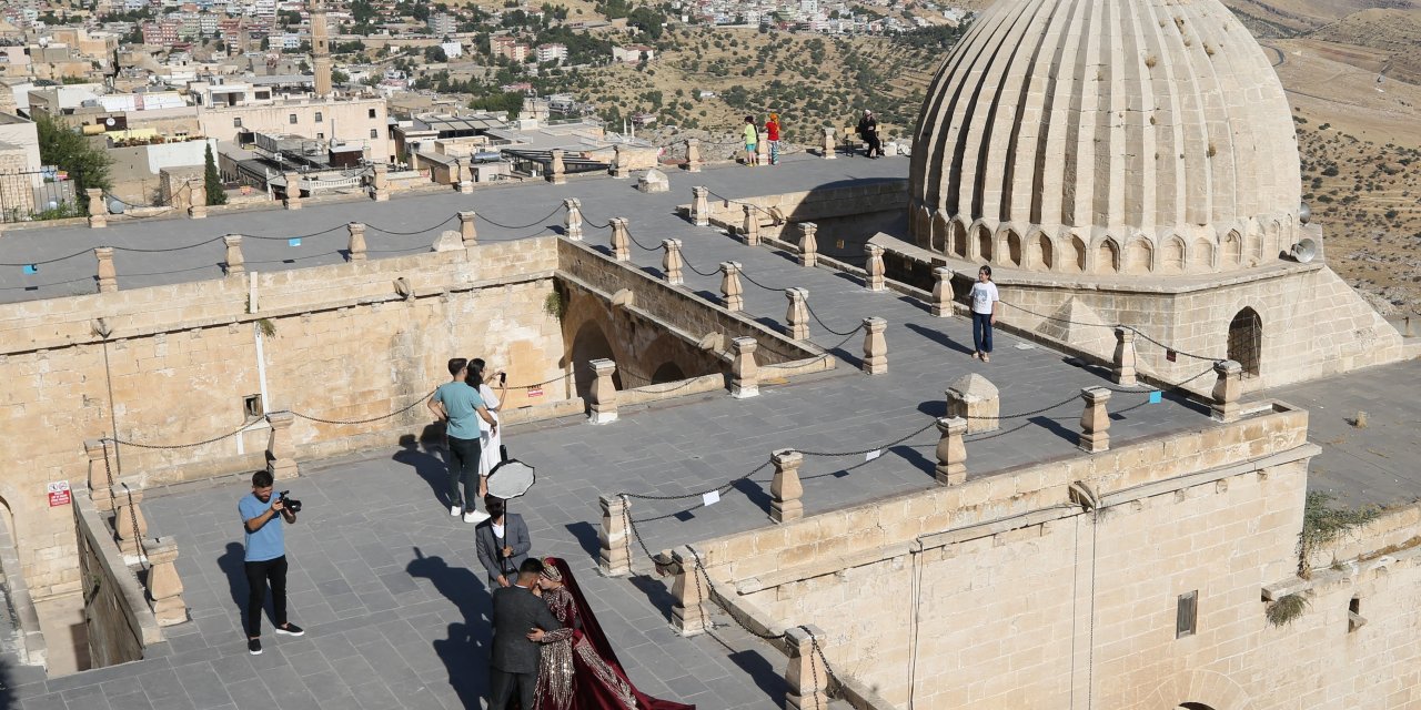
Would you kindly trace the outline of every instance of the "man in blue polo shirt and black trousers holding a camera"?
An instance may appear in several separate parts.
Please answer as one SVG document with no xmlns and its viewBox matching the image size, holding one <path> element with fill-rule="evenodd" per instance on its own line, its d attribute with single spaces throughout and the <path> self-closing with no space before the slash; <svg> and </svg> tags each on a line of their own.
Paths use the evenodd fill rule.
<svg viewBox="0 0 1421 710">
<path fill-rule="evenodd" d="M 237 501 L 242 527 L 246 531 L 247 595 L 247 653 L 261 655 L 261 608 L 266 588 L 271 584 L 271 606 L 276 611 L 276 632 L 287 636 L 306 633 L 286 618 L 286 531 L 296 523 L 300 504 L 286 493 L 271 498 L 271 471 L 252 474 L 252 494 Z M 280 518 L 280 520 L 277 520 Z"/>
</svg>

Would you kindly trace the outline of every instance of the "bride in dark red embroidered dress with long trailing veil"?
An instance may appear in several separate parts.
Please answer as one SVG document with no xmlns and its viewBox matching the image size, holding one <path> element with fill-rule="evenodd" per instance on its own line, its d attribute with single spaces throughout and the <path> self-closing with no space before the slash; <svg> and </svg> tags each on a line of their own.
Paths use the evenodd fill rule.
<svg viewBox="0 0 1421 710">
<path fill-rule="evenodd" d="M 543 635 L 533 710 L 695 710 L 637 690 L 567 562 L 549 557 L 543 565 L 543 602 L 563 629 Z"/>
</svg>

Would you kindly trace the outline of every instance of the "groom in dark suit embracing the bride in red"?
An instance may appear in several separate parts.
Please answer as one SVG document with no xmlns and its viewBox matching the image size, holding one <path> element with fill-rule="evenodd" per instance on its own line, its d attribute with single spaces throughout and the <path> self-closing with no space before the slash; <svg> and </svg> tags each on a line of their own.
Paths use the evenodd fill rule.
<svg viewBox="0 0 1421 710">
<path fill-rule="evenodd" d="M 523 710 L 533 707 L 537 689 L 539 643 L 543 632 L 561 629 L 543 599 L 533 594 L 543 562 L 524 559 L 513 586 L 493 591 L 493 670 L 489 710 L 506 710 L 514 689 Z"/>
</svg>

